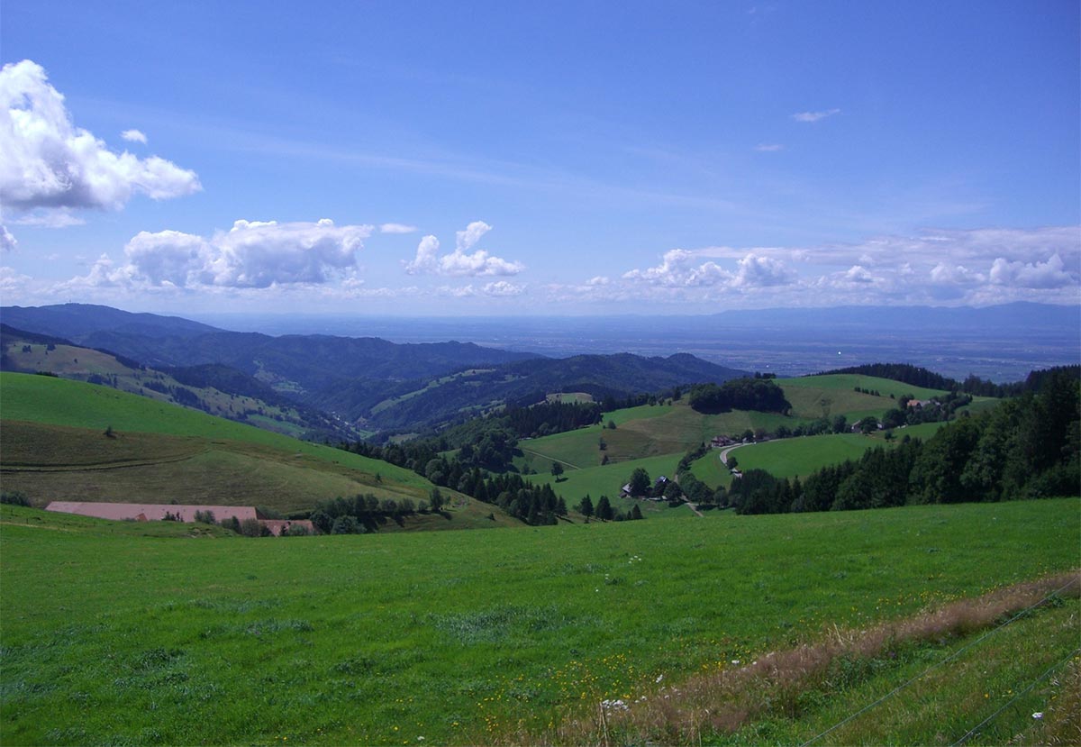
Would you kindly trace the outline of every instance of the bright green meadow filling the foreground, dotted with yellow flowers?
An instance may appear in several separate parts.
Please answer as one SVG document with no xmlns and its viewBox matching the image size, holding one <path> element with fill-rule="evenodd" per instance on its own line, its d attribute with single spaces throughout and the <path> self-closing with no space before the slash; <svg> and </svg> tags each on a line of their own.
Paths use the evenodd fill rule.
<svg viewBox="0 0 1081 747">
<path fill-rule="evenodd" d="M 662 676 L 1069 569 L 1079 511 L 1057 499 L 219 541 L 2 506 L 0 729 L 4 744 L 509 738 L 649 696 Z M 985 682 L 996 697 L 1018 686 L 991 668 L 963 684 L 979 703 Z M 877 669 L 875 692 L 908 675 Z M 961 686 L 926 697 L 959 702 Z M 929 716 L 905 741 L 952 742 L 955 726 Z"/>
</svg>

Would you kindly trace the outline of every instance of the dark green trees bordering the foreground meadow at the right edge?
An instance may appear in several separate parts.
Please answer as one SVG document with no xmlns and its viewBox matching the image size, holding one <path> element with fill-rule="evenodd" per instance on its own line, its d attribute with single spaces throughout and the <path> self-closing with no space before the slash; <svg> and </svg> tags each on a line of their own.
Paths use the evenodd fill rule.
<svg viewBox="0 0 1081 747">
<path fill-rule="evenodd" d="M 802 483 L 748 470 L 721 497 L 739 513 L 1076 495 L 1081 484 L 1079 366 L 1031 376 L 1035 390 L 962 414 L 925 442 L 903 438 Z"/>
</svg>

